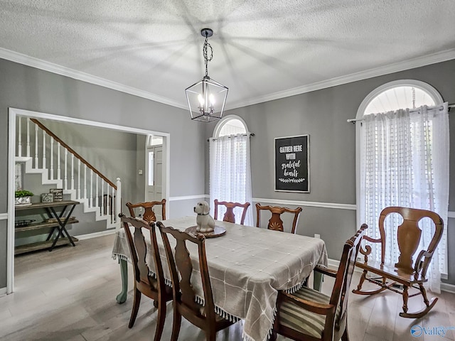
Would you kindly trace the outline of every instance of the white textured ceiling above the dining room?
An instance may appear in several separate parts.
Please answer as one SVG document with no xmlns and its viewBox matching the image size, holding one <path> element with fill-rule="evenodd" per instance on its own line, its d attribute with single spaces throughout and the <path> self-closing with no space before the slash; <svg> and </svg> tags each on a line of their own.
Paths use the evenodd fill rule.
<svg viewBox="0 0 455 341">
<path fill-rule="evenodd" d="M 455 1 L 0 0 L 0 48 L 178 107 L 204 74 L 204 27 L 208 75 L 229 87 L 229 108 L 452 53 Z"/>
</svg>

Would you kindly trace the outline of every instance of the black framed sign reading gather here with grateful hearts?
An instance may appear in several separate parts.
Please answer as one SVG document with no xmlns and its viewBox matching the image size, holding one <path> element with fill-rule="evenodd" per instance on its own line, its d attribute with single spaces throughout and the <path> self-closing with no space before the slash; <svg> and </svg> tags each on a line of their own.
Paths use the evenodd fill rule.
<svg viewBox="0 0 455 341">
<path fill-rule="evenodd" d="M 310 191 L 309 135 L 275 138 L 275 191 Z"/>
</svg>

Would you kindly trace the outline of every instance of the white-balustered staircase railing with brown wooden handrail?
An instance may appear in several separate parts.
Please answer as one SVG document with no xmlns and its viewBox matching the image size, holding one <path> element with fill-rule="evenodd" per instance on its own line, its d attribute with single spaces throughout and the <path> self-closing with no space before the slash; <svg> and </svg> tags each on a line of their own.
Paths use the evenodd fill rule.
<svg viewBox="0 0 455 341">
<path fill-rule="evenodd" d="M 121 182 L 113 183 L 37 119 L 16 118 L 16 162 L 25 163 L 26 174 L 41 174 L 43 185 L 63 188 L 70 200 L 105 220 L 107 229 L 120 227 Z M 25 142 L 25 143 L 23 143 Z"/>
</svg>

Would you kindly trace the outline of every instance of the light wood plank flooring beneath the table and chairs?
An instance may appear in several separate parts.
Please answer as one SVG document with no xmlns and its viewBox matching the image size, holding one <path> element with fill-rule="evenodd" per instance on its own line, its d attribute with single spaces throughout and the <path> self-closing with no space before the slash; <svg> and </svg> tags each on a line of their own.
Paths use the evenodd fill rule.
<svg viewBox="0 0 455 341">
<path fill-rule="evenodd" d="M 111 258 L 114 236 L 82 240 L 76 247 L 60 247 L 16 257 L 15 293 L 0 297 L 1 341 L 103 341 L 152 340 L 156 310 L 151 300 L 142 298 L 136 323 L 128 328 L 132 308 L 132 284 L 127 302 L 119 305 L 115 296 L 121 288 L 119 266 Z M 129 274 L 131 274 L 129 266 Z M 358 283 L 358 274 L 353 285 Z M 323 283 L 330 293 L 331 278 Z M 430 295 L 433 295 L 430 293 Z M 410 299 L 410 309 L 420 306 L 419 298 Z M 441 293 L 434 309 L 418 320 L 400 318 L 401 296 L 350 294 L 348 331 L 351 341 L 455 340 L 454 330 L 445 337 L 412 337 L 410 328 L 455 326 L 455 294 Z M 161 340 L 171 338 L 172 308 Z M 203 341 L 198 328 L 182 319 L 178 340 Z M 218 341 L 242 340 L 241 321 L 218 332 Z M 279 338 L 279 340 L 287 340 Z"/>
</svg>

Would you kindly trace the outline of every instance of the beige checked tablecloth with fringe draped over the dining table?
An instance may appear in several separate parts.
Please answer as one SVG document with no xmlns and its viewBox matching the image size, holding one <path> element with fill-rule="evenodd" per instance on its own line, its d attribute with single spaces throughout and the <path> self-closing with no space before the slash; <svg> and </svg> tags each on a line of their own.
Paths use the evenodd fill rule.
<svg viewBox="0 0 455 341">
<path fill-rule="evenodd" d="M 196 225 L 196 217 L 182 217 L 163 221 L 165 226 L 185 230 Z M 245 320 L 244 340 L 264 341 L 269 337 L 276 313 L 279 290 L 294 291 L 311 274 L 316 265 L 327 266 L 326 245 L 321 239 L 298 234 L 248 227 L 230 222 L 215 222 L 225 227 L 226 234 L 205 240 L 213 300 L 217 312 L 225 318 Z M 147 236 L 146 236 L 146 239 Z M 157 233 L 164 276 L 170 283 L 161 235 Z M 173 238 L 169 238 L 173 242 Z M 194 245 L 192 253 L 193 286 L 203 297 L 199 266 Z M 193 251 L 193 252 L 192 252 Z M 127 238 L 117 232 L 112 256 L 129 258 Z M 151 254 L 146 259 L 153 266 Z M 153 272 L 153 268 L 151 268 Z"/>
</svg>

